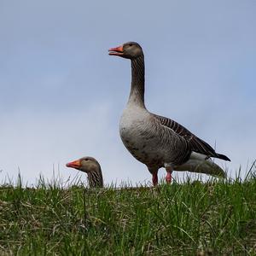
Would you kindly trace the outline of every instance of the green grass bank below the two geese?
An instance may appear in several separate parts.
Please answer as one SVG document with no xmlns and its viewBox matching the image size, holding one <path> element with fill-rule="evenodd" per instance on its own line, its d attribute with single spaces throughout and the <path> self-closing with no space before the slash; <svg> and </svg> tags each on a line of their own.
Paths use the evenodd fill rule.
<svg viewBox="0 0 256 256">
<path fill-rule="evenodd" d="M 0 187 L 0 255 L 256 255 L 256 178 Z"/>
</svg>

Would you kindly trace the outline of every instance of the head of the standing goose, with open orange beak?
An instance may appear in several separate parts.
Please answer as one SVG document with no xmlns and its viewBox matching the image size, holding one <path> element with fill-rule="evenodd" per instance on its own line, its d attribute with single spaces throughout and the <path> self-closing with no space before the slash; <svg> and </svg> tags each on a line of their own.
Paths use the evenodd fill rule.
<svg viewBox="0 0 256 256">
<path fill-rule="evenodd" d="M 108 55 L 116 55 L 130 60 L 143 56 L 143 49 L 136 42 L 128 42 L 118 47 L 108 49 L 108 51 Z"/>
</svg>

